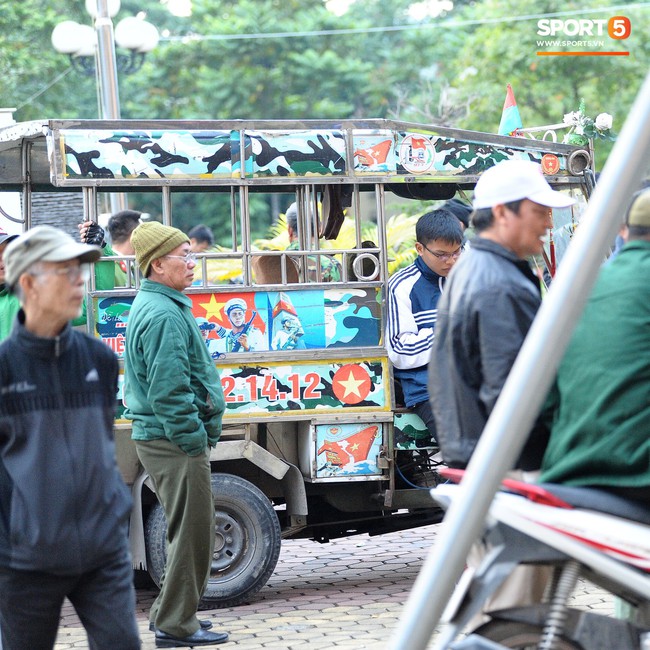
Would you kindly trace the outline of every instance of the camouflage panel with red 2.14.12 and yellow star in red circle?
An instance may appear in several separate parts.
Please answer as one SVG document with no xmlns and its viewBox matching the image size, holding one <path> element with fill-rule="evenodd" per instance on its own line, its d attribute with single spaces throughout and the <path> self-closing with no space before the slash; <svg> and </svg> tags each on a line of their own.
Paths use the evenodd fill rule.
<svg viewBox="0 0 650 650">
<path fill-rule="evenodd" d="M 390 409 L 386 359 L 217 367 L 226 417 Z"/>
</svg>

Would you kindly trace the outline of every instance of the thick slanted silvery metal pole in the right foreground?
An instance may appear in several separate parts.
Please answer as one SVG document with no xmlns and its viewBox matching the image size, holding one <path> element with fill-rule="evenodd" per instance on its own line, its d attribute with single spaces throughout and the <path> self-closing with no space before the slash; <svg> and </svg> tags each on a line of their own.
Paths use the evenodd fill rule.
<svg viewBox="0 0 650 650">
<path fill-rule="evenodd" d="M 650 74 L 467 468 L 388 647 L 424 650 L 551 385 L 609 243 L 650 159 Z"/>
</svg>

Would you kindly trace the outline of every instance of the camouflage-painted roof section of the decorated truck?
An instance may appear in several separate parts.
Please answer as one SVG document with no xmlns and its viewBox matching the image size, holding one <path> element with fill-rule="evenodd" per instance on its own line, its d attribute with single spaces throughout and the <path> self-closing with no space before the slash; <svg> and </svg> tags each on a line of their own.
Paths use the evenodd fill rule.
<svg viewBox="0 0 650 650">
<path fill-rule="evenodd" d="M 383 183 L 432 199 L 512 158 L 556 185 L 581 183 L 591 164 L 573 145 L 385 119 L 35 120 L 0 129 L 0 188 Z"/>
</svg>

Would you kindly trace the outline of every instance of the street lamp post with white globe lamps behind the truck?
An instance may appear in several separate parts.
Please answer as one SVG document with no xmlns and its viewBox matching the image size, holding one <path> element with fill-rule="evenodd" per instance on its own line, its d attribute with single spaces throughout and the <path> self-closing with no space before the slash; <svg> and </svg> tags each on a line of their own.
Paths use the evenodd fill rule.
<svg viewBox="0 0 650 650">
<path fill-rule="evenodd" d="M 65 20 L 52 31 L 52 45 L 70 57 L 72 67 L 83 74 L 95 74 L 105 120 L 120 119 L 118 71 L 136 72 L 145 54 L 158 44 L 158 30 L 146 20 L 129 17 L 121 20 L 113 32 L 113 17 L 120 0 L 86 0 L 86 11 L 95 19 L 95 28 Z M 116 53 L 115 44 L 129 54 Z M 111 194 L 111 212 L 127 207 L 124 194 Z"/>
</svg>

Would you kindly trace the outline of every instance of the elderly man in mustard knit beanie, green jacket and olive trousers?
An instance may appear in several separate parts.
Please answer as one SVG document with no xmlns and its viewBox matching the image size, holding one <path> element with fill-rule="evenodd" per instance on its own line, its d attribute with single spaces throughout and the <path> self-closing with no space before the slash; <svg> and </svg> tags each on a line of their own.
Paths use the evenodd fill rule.
<svg viewBox="0 0 650 650">
<path fill-rule="evenodd" d="M 125 416 L 133 420 L 138 457 L 167 519 L 167 563 L 151 606 L 156 647 L 228 640 L 196 616 L 214 548 L 210 448 L 221 433 L 225 402 L 219 374 L 183 291 L 196 260 L 190 241 L 157 222 L 131 236 L 145 279 L 126 333 Z"/>
</svg>

